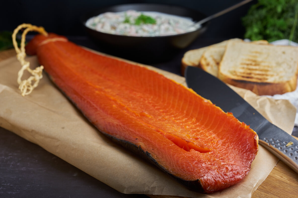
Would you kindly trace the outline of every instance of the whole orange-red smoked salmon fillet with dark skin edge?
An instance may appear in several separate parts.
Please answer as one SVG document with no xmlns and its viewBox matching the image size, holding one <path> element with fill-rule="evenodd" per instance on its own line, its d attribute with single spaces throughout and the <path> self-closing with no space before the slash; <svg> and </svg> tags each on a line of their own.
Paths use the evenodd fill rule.
<svg viewBox="0 0 298 198">
<path fill-rule="evenodd" d="M 61 37 L 36 35 L 51 80 L 112 140 L 139 153 L 194 191 L 211 193 L 249 172 L 258 136 L 189 88 L 146 67 L 92 53 Z M 62 37 L 65 38 L 65 37 Z"/>
</svg>

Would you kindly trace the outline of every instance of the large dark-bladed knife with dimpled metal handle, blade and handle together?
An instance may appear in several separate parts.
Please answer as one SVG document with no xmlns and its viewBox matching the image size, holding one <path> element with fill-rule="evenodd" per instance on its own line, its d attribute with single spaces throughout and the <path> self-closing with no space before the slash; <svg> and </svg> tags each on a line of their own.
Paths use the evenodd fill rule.
<svg viewBox="0 0 298 198">
<path fill-rule="evenodd" d="M 197 94 L 257 132 L 259 143 L 298 173 L 298 140 L 270 123 L 248 102 L 218 78 L 197 67 L 185 69 L 186 83 Z"/>
</svg>

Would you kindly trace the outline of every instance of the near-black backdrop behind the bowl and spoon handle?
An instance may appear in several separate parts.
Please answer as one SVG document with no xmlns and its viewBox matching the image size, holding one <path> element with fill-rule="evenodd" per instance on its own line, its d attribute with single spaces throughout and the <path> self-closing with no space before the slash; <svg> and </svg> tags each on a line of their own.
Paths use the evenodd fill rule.
<svg viewBox="0 0 298 198">
<path fill-rule="evenodd" d="M 21 23 L 43 26 L 47 32 L 65 36 L 84 36 L 80 16 L 91 10 L 117 4 L 128 3 L 162 3 L 197 10 L 207 16 L 230 7 L 240 0 L 8 0 L 1 2 L 1 30 L 13 31 Z M 242 7 L 212 20 L 208 30 L 202 35 L 206 38 L 243 38 L 244 27 L 241 17 L 254 0 Z"/>
</svg>

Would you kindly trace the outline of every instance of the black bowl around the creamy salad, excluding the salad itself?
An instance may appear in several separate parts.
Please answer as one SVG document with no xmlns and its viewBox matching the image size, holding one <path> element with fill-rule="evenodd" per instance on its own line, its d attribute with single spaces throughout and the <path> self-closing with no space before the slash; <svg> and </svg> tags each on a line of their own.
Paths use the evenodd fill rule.
<svg viewBox="0 0 298 198">
<path fill-rule="evenodd" d="M 86 21 L 104 12 L 121 12 L 129 9 L 137 11 L 156 11 L 171 15 L 190 17 L 194 21 L 205 18 L 200 12 L 165 4 L 122 4 L 97 9 L 81 17 L 81 23 L 87 35 L 96 42 L 105 53 L 127 58 L 142 63 L 154 63 L 167 60 L 175 56 L 179 50 L 187 47 L 207 29 L 207 23 L 201 28 L 184 34 L 156 37 L 135 37 L 108 34 L 88 28 Z"/>
</svg>

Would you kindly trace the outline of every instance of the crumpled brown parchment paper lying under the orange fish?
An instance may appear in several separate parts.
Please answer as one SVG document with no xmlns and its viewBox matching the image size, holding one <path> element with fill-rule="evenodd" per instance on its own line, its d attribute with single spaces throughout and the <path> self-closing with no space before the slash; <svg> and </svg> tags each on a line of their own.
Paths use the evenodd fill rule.
<svg viewBox="0 0 298 198">
<path fill-rule="evenodd" d="M 31 68 L 38 66 L 35 56 L 27 58 L 27 61 L 30 61 Z M 0 126 L 40 145 L 122 193 L 251 197 L 278 161 L 259 145 L 251 171 L 242 181 L 212 194 L 190 191 L 154 165 L 102 136 L 46 75 L 32 94 L 22 97 L 16 81 L 20 67 L 14 57 L 0 62 Z M 150 69 L 186 85 L 184 77 L 154 67 Z M 23 78 L 27 77 L 25 75 Z M 269 121 L 291 134 L 296 109 L 290 102 L 259 97 L 250 91 L 232 88 Z"/>
</svg>

